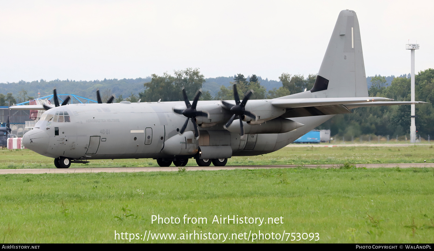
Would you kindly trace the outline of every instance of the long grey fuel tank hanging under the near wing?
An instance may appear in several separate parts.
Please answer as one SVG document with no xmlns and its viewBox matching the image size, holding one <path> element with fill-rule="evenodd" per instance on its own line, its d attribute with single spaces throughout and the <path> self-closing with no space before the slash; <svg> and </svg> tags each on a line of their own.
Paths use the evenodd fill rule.
<svg viewBox="0 0 434 251">
<path fill-rule="evenodd" d="M 281 117 L 265 121 L 260 125 L 250 125 L 247 122 L 243 122 L 245 134 L 283 133 L 290 132 L 302 126 L 302 123 Z M 226 129 L 229 132 L 240 133 L 240 119 L 233 120 L 232 124 Z"/>
</svg>

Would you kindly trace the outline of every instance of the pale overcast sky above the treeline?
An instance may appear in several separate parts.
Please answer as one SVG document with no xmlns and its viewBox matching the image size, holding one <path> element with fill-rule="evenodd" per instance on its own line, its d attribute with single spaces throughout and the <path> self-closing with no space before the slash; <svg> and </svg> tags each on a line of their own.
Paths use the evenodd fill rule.
<svg viewBox="0 0 434 251">
<path fill-rule="evenodd" d="M 355 10 L 366 75 L 433 68 L 434 1 L 0 0 L 0 82 L 102 80 L 200 68 L 205 77 L 317 73 Z"/>
</svg>

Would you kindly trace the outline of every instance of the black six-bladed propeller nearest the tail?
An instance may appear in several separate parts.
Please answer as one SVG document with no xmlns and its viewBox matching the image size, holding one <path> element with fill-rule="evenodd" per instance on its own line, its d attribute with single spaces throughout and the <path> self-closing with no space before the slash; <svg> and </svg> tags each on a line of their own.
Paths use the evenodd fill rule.
<svg viewBox="0 0 434 251">
<path fill-rule="evenodd" d="M 244 135 L 244 128 L 243 128 L 243 119 L 244 116 L 249 116 L 252 119 L 256 119 L 256 116 L 253 113 L 250 113 L 249 111 L 246 111 L 246 103 L 247 100 L 249 100 L 250 96 L 252 96 L 253 90 L 249 90 L 244 98 L 243 101 L 240 101 L 240 97 L 238 96 L 237 86 L 233 85 L 233 97 L 235 98 L 235 105 L 227 103 L 226 101 L 222 100 L 221 103 L 223 104 L 223 107 L 227 110 L 230 110 L 230 112 L 233 114 L 232 117 L 230 117 L 229 121 L 224 125 L 225 127 L 229 127 L 230 124 L 232 124 L 234 119 L 240 119 L 240 135 Z"/>
</svg>

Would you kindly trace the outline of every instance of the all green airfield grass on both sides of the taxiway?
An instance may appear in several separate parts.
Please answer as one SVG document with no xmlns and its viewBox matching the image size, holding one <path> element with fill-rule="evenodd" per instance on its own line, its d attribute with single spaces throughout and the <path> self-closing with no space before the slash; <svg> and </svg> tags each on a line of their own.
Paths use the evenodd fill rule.
<svg viewBox="0 0 434 251">
<path fill-rule="evenodd" d="M 265 235 L 253 243 L 433 243 L 434 168 L 351 165 L 424 160 L 434 162 L 429 145 L 286 147 L 264 156 L 234 157 L 228 164 L 340 164 L 340 168 L 5 174 L 0 175 L 0 241 L 130 242 L 125 234 L 115 240 L 116 231 L 140 238 L 131 240 L 134 243 L 252 242 L 255 234 L 261 238 L 259 233 Z M 54 167 L 52 163 L 29 150 L 0 151 L 0 168 Z M 156 166 L 156 162 L 101 160 L 77 166 Z M 152 222 L 152 215 L 178 217 L 180 223 L 158 224 Z M 184 215 L 207 222 L 187 224 Z M 214 216 L 220 215 L 264 218 L 264 222 L 278 218 L 279 222 L 213 223 Z M 288 232 L 300 233 L 300 240 L 291 241 L 299 237 Z M 154 234 L 158 233 L 177 235 L 157 240 Z M 217 239 L 205 240 L 204 235 L 202 240 L 185 239 L 193 233 L 209 233 Z M 227 239 L 217 234 L 227 234 Z M 240 239 L 240 234 L 249 240 Z M 276 234 L 283 241 L 273 240 Z"/>
</svg>

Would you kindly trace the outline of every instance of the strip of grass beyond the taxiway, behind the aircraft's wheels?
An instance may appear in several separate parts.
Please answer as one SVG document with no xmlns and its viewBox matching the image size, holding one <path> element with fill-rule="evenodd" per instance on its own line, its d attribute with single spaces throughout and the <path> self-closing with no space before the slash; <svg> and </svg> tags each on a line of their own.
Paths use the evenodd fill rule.
<svg viewBox="0 0 434 251">
<path fill-rule="evenodd" d="M 354 147 L 284 147 L 270 154 L 233 157 L 227 165 L 282 165 L 282 164 L 370 164 L 370 163 L 427 163 L 434 162 L 433 145 L 403 147 L 354 146 Z M 197 166 L 190 159 L 188 166 Z M 91 160 L 88 164 L 72 164 L 71 167 L 156 167 L 152 159 Z M 172 164 L 173 166 L 173 164 Z M 53 159 L 28 149 L 0 150 L 0 169 L 55 168 Z"/>
</svg>

